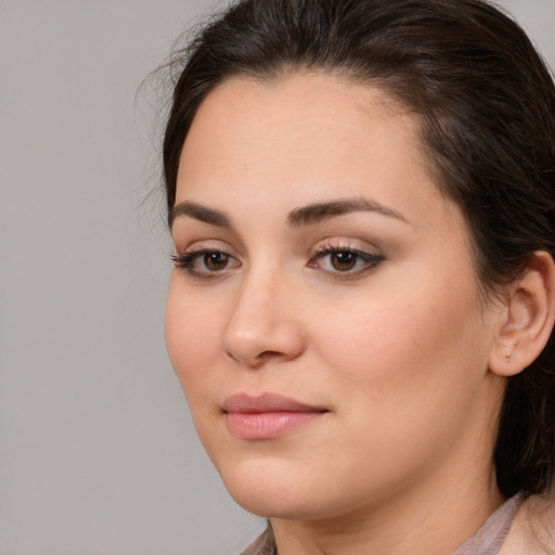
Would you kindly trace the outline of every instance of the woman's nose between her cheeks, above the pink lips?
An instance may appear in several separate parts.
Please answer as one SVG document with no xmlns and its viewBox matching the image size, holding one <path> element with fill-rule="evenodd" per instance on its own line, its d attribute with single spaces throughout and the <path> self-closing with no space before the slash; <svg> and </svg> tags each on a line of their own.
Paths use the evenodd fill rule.
<svg viewBox="0 0 555 555">
<path fill-rule="evenodd" d="M 294 297 L 291 284 L 274 278 L 246 280 L 223 332 L 224 354 L 249 367 L 299 357 L 305 339 Z"/>
</svg>

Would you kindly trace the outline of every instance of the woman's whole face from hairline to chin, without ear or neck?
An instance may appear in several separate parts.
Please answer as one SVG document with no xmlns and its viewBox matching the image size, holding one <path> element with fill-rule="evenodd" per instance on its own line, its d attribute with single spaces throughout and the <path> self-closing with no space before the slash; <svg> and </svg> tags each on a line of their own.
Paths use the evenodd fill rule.
<svg viewBox="0 0 555 555">
<path fill-rule="evenodd" d="M 172 217 L 168 350 L 240 504 L 336 518 L 489 479 L 500 310 L 414 115 L 327 75 L 228 80 Z"/>
</svg>

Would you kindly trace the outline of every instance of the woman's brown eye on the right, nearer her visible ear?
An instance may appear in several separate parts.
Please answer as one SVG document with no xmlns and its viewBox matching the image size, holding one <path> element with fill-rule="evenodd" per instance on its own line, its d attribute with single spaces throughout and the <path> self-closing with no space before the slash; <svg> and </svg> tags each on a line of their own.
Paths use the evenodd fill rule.
<svg viewBox="0 0 555 555">
<path fill-rule="evenodd" d="M 313 256 L 308 266 L 349 276 L 370 271 L 383 260 L 380 256 L 352 247 L 325 246 Z"/>
</svg>

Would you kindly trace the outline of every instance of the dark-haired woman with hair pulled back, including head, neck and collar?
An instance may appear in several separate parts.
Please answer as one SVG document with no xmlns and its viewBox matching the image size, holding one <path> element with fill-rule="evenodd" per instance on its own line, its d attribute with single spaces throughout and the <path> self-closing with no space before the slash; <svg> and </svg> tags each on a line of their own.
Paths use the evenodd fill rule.
<svg viewBox="0 0 555 555">
<path fill-rule="evenodd" d="M 168 351 L 247 552 L 553 553 L 555 89 L 480 0 L 245 0 L 176 57 Z"/>
</svg>

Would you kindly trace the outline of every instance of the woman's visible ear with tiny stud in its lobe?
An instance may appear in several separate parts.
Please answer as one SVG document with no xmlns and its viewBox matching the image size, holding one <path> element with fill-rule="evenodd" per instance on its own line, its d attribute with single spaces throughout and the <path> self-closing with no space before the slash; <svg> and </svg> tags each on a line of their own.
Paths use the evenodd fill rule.
<svg viewBox="0 0 555 555">
<path fill-rule="evenodd" d="M 513 376 L 529 366 L 547 344 L 554 321 L 555 262 L 548 253 L 537 250 L 509 286 L 490 371 Z"/>
</svg>

